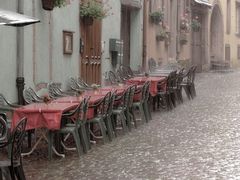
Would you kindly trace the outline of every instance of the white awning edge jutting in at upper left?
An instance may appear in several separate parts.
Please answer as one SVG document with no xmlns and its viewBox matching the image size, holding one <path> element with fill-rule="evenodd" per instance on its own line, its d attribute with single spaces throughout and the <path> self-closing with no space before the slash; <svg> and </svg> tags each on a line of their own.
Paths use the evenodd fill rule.
<svg viewBox="0 0 240 180">
<path fill-rule="evenodd" d="M 0 9 L 0 25 L 26 26 L 37 22 L 40 22 L 40 20 L 16 12 Z"/>
</svg>

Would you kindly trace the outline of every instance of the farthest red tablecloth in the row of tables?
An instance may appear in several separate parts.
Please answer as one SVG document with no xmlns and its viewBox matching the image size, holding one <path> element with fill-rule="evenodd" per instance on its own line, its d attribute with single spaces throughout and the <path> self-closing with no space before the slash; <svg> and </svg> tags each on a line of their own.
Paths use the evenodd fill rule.
<svg viewBox="0 0 240 180">
<path fill-rule="evenodd" d="M 127 80 L 128 84 L 137 84 L 141 85 L 144 84 L 146 81 L 150 82 L 150 94 L 151 96 L 156 96 L 158 93 L 158 83 L 166 82 L 166 77 L 134 77 Z M 162 87 L 164 90 L 166 89 L 166 83 L 163 84 Z"/>
</svg>

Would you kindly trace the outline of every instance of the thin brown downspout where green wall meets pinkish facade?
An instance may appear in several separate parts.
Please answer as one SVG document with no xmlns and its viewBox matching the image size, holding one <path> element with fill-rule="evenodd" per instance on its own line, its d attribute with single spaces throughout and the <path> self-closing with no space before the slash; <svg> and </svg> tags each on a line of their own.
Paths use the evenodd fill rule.
<svg viewBox="0 0 240 180">
<path fill-rule="evenodd" d="M 142 58 L 142 65 L 143 69 L 146 71 L 146 62 L 147 62 L 147 0 L 143 1 L 143 58 Z"/>
</svg>

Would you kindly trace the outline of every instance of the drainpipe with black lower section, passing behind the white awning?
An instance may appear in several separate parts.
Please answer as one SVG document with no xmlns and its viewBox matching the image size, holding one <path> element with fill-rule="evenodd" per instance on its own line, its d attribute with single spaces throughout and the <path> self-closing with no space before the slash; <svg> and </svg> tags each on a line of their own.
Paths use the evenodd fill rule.
<svg viewBox="0 0 240 180">
<path fill-rule="evenodd" d="M 23 14 L 24 3 L 23 0 L 18 0 L 17 11 Z M 24 89 L 24 31 L 23 27 L 17 27 L 17 91 L 18 91 L 18 104 L 23 104 L 23 89 Z"/>
</svg>

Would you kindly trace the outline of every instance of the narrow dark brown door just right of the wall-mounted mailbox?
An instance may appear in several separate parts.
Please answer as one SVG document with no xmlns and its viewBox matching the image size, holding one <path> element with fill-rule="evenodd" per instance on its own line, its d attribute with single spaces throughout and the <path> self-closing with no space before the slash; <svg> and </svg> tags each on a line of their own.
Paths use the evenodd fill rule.
<svg viewBox="0 0 240 180">
<path fill-rule="evenodd" d="M 121 39 L 123 40 L 123 59 L 121 63 L 126 66 L 130 65 L 130 15 L 130 8 L 122 6 Z"/>
</svg>

